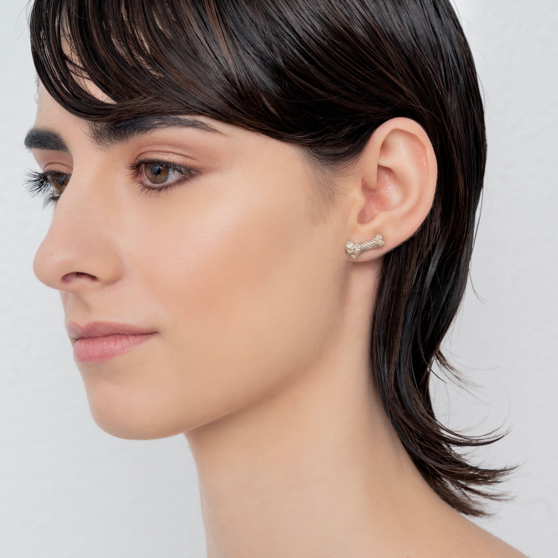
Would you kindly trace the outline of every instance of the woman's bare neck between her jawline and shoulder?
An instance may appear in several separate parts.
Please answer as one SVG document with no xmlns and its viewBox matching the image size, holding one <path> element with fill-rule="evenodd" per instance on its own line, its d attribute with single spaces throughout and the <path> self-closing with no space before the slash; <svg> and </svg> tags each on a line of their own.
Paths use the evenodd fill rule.
<svg viewBox="0 0 558 558">
<path fill-rule="evenodd" d="M 265 401 L 188 432 L 208 558 L 382 553 L 439 506 L 383 411 L 359 330 L 341 328 Z"/>
</svg>

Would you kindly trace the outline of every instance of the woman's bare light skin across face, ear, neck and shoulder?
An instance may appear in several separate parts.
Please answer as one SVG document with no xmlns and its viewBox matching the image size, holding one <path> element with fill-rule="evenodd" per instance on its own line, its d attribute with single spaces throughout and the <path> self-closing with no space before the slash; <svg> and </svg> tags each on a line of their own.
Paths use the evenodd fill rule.
<svg viewBox="0 0 558 558">
<path fill-rule="evenodd" d="M 397 118 L 343 173 L 295 146 L 199 118 L 98 145 L 89 124 L 39 92 L 36 127 L 71 174 L 37 252 L 66 322 L 157 331 L 79 364 L 100 427 L 151 439 L 184 432 L 196 461 L 209 558 L 523 556 L 436 496 L 383 411 L 368 357 L 382 256 L 426 217 L 436 159 Z M 195 171 L 142 191 L 128 166 Z M 320 191 L 334 191 L 328 201 Z M 345 255 L 347 239 L 382 248 Z"/>
</svg>

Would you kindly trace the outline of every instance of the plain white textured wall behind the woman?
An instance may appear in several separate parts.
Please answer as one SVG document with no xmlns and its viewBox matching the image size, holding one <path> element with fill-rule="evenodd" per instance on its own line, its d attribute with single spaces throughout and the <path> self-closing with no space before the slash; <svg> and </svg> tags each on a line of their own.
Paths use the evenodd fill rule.
<svg viewBox="0 0 558 558">
<path fill-rule="evenodd" d="M 0 0 L 0 556 L 202 558 L 183 436 L 127 441 L 90 418 L 55 292 L 31 264 L 50 212 L 22 181 L 35 114 L 26 0 Z M 532 558 L 558 549 L 558 3 L 457 0 L 487 108 L 489 162 L 469 287 L 446 346 L 469 394 L 442 419 L 511 433 L 475 459 L 521 463 L 481 525 Z"/>
</svg>

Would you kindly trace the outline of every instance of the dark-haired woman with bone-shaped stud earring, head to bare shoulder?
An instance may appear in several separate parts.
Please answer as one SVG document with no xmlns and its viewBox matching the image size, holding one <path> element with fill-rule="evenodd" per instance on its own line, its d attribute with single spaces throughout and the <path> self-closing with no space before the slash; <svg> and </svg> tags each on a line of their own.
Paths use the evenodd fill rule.
<svg viewBox="0 0 558 558">
<path fill-rule="evenodd" d="M 184 432 L 208 556 L 514 557 L 437 422 L 485 165 L 447 0 L 36 0 L 26 145 L 93 416 Z"/>
</svg>

